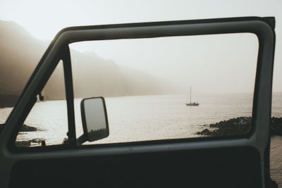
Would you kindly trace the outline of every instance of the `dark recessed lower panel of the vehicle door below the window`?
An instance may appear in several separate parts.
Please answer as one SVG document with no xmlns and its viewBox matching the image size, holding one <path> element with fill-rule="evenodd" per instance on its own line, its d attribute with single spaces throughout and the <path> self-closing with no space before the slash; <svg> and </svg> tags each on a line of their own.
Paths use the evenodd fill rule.
<svg viewBox="0 0 282 188">
<path fill-rule="evenodd" d="M 20 161 L 10 187 L 261 187 L 252 147 Z"/>
</svg>

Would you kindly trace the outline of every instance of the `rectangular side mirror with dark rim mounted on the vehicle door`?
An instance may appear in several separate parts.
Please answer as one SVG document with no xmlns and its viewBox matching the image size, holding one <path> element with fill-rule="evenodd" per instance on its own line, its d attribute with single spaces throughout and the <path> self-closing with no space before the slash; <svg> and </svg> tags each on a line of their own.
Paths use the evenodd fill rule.
<svg viewBox="0 0 282 188">
<path fill-rule="evenodd" d="M 92 97 L 80 103 L 84 137 L 92 142 L 109 136 L 108 117 L 104 98 Z"/>
</svg>

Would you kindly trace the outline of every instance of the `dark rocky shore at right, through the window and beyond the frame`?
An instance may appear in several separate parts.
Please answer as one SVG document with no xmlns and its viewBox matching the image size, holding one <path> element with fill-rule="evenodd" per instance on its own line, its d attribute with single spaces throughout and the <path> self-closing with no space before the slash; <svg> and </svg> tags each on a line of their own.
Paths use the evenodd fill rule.
<svg viewBox="0 0 282 188">
<path fill-rule="evenodd" d="M 223 120 L 219 123 L 204 125 L 210 129 L 204 129 L 196 134 L 207 136 L 228 136 L 240 135 L 250 132 L 251 117 L 232 118 L 230 120 Z M 282 118 L 271 118 L 271 135 L 282 135 Z"/>
</svg>

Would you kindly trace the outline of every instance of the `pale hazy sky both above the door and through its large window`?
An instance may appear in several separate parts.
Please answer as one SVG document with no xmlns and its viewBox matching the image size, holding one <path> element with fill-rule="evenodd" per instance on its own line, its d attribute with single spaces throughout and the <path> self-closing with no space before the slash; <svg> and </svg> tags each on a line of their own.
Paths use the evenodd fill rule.
<svg viewBox="0 0 282 188">
<path fill-rule="evenodd" d="M 54 38 L 59 30 L 64 27 L 78 26 L 78 25 L 104 25 L 114 23 L 138 23 L 138 22 L 154 22 L 154 21 L 166 21 L 166 20 L 193 20 L 193 19 L 205 19 L 205 18 L 228 18 L 228 17 L 241 17 L 241 16 L 275 16 L 276 17 L 276 55 L 274 59 L 274 92 L 282 92 L 282 1 L 3 1 L 0 0 L 0 20 L 13 20 L 19 25 L 25 27 L 37 39 L 51 40 Z M 216 39 L 216 41 L 214 41 Z M 205 58 L 202 58 L 203 62 L 212 57 L 212 54 L 217 51 L 224 50 L 223 46 L 227 46 L 225 49 L 229 55 L 232 55 L 232 61 L 228 61 L 227 55 L 223 56 L 224 62 L 228 61 L 224 65 L 217 65 L 214 60 L 214 66 L 209 67 L 205 64 L 192 62 L 197 61 L 197 57 L 189 57 L 190 63 L 183 64 L 184 61 L 188 61 L 187 57 L 184 58 L 183 54 L 179 55 L 180 47 L 186 44 L 193 44 L 195 40 L 193 37 L 186 37 L 181 39 L 152 39 L 149 42 L 142 39 L 143 42 L 133 40 L 131 42 L 105 42 L 94 44 L 81 44 L 73 45 L 74 49 L 78 51 L 91 51 L 101 56 L 102 58 L 110 58 L 116 61 L 116 63 L 125 65 L 131 68 L 137 68 L 145 70 L 148 73 L 154 74 L 157 77 L 166 77 L 172 82 L 181 83 L 184 87 L 187 85 L 193 85 L 201 90 L 204 87 L 206 89 L 213 89 L 210 83 L 218 82 L 221 88 L 225 88 L 225 91 L 229 92 L 252 92 L 255 80 L 255 61 L 257 56 L 257 41 L 251 35 L 229 35 L 221 37 L 209 36 L 204 38 L 197 38 L 200 41 L 199 46 L 194 50 L 197 50 L 196 55 L 201 53 L 208 54 L 207 47 L 212 47 L 214 53 L 209 53 Z M 186 42 L 186 44 L 184 44 Z M 207 44 L 209 43 L 209 44 Z M 160 63 L 154 61 L 154 56 L 145 61 L 140 51 L 149 53 L 149 49 L 146 48 L 150 44 L 151 48 L 156 53 L 164 54 Z M 164 44 L 172 44 L 175 46 L 174 51 L 170 53 L 166 52 Z M 111 46 L 111 47 L 109 47 Z M 154 47 L 153 47 L 154 46 Z M 202 46 L 202 48 L 200 48 Z M 185 46 L 185 49 L 189 49 L 191 46 Z M 160 49 L 161 48 L 161 49 Z M 115 49 L 123 49 L 123 53 L 116 53 Z M 125 56 L 125 51 L 133 49 L 132 58 Z M 192 49 L 191 49 L 192 50 Z M 201 51 L 202 50 L 202 51 Z M 109 53 L 111 51 L 111 53 Z M 233 51 L 233 54 L 231 53 Z M 245 53 L 244 53 L 245 51 Z M 248 53 L 246 53 L 246 51 Z M 187 51 L 186 51 L 187 52 Z M 156 54 L 154 53 L 154 54 Z M 227 53 L 227 54 L 228 54 Z M 240 55 L 240 59 L 236 56 Z M 179 58 L 182 57 L 183 58 Z M 179 58 L 178 63 L 168 63 L 175 58 Z M 135 63 L 133 63 L 134 59 Z M 138 60 L 138 61 L 137 61 Z M 241 63 L 237 63 L 240 60 Z M 141 62 L 142 61 L 142 62 Z M 147 62 L 147 63 L 146 63 Z M 230 66 L 233 66 L 232 69 Z M 195 70 L 189 70 L 190 75 L 196 77 L 196 75 L 204 75 L 206 78 L 211 77 L 214 80 L 206 79 L 209 82 L 201 81 L 201 77 L 198 77 L 197 82 L 191 82 L 188 75 L 188 68 L 195 68 Z M 221 67 L 221 69 L 218 67 Z M 161 68 L 161 69 L 160 69 Z M 177 69 L 178 68 L 178 69 Z M 225 68 L 225 69 L 224 69 Z M 229 68 L 229 69 L 228 69 Z M 242 68 L 244 71 L 242 72 Z M 171 74 L 171 70 L 176 73 Z M 212 70 L 212 71 L 209 71 Z M 230 72 L 223 73 L 223 70 Z M 233 71 L 232 71 L 233 70 Z M 214 73 L 214 74 L 212 74 Z M 217 73 L 217 74 L 215 74 Z M 248 73 L 248 75 L 246 74 Z M 219 74 L 225 75 L 220 77 Z M 228 76 L 231 74 L 231 76 Z M 234 77 L 238 74 L 238 81 L 234 82 Z M 237 78 L 236 78 L 237 79 Z M 194 79 L 195 80 L 195 79 Z M 222 81 L 224 80 L 224 82 Z M 244 82 L 247 80 L 247 82 Z M 236 85 L 237 84 L 237 85 Z M 245 84 L 243 86 L 243 84 Z M 240 86 L 241 85 L 241 86 Z M 228 87 L 229 86 L 229 87 Z M 216 91 L 220 91 L 219 88 L 214 88 Z M 224 89 L 223 89 L 224 90 Z M 222 91 L 224 92 L 224 91 Z"/>
</svg>

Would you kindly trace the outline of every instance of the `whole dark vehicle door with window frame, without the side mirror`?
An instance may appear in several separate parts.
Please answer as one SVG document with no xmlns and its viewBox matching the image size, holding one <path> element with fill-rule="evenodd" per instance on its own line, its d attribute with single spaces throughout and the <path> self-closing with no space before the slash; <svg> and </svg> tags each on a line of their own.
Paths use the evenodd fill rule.
<svg viewBox="0 0 282 188">
<path fill-rule="evenodd" d="M 222 18 L 68 27 L 45 52 L 0 134 L 1 187 L 270 187 L 269 145 L 274 18 Z M 259 53 L 252 129 L 233 137 L 78 146 L 68 44 L 226 33 L 253 33 Z M 16 135 L 57 63 L 63 60 L 68 144 L 19 149 Z M 110 125 L 111 126 L 111 125 Z"/>
</svg>

